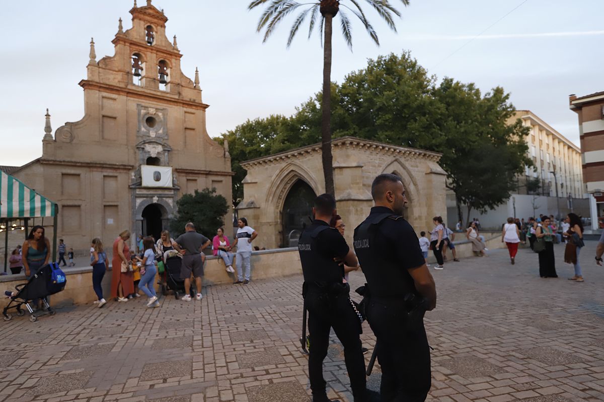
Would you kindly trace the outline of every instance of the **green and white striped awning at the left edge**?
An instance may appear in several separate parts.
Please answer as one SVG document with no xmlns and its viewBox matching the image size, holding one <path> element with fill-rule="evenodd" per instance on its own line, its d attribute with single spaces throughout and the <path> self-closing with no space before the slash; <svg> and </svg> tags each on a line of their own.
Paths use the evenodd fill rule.
<svg viewBox="0 0 604 402">
<path fill-rule="evenodd" d="M 0 171 L 0 218 L 54 216 L 54 203 Z"/>
</svg>

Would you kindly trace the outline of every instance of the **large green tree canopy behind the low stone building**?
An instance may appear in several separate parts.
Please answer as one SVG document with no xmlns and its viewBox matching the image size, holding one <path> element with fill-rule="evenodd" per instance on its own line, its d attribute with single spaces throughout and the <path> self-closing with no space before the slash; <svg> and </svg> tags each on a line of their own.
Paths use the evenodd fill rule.
<svg viewBox="0 0 604 402">
<path fill-rule="evenodd" d="M 235 203 L 243 196 L 240 161 L 320 141 L 321 97 L 315 94 L 291 117 L 248 120 L 222 135 L 236 172 Z M 503 88 L 483 95 L 474 83 L 449 77 L 437 83 L 410 53 L 370 59 L 341 85 L 332 83 L 332 105 L 333 137 L 441 152 L 447 187 L 470 210 L 503 203 L 515 188 L 516 173 L 532 166 L 524 139 L 528 128 L 519 119 L 510 123 L 515 108 Z"/>
</svg>

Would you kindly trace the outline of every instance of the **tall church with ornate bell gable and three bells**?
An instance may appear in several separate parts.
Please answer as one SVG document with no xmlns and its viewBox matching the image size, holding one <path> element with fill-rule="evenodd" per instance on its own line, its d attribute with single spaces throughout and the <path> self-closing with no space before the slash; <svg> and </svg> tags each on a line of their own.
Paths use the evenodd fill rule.
<svg viewBox="0 0 604 402">
<path fill-rule="evenodd" d="M 184 193 L 215 187 L 232 199 L 228 144 L 206 131 L 198 72 L 194 80 L 182 73 L 162 10 L 148 0 L 130 14 L 132 28 L 119 21 L 114 56 L 97 61 L 91 41 L 79 83 L 84 117 L 53 135 L 47 111 L 42 157 L 11 172 L 59 204 L 59 236 L 80 254 L 92 238 L 109 245 L 124 229 L 157 238 Z"/>
</svg>

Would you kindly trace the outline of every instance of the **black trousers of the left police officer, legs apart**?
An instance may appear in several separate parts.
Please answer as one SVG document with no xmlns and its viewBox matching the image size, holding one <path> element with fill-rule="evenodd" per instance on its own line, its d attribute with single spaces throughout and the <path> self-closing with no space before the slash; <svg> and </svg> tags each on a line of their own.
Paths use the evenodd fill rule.
<svg viewBox="0 0 604 402">
<path fill-rule="evenodd" d="M 325 395 L 326 382 L 323 378 L 323 360 L 329 346 L 329 332 L 333 328 L 344 346 L 344 360 L 350 377 L 355 401 L 365 398 L 365 358 L 361 351 L 359 332 L 361 323 L 349 302 L 349 293 L 338 295 L 309 291 L 304 298 L 309 312 L 310 350 L 308 371 L 310 389 L 317 399 Z"/>
</svg>

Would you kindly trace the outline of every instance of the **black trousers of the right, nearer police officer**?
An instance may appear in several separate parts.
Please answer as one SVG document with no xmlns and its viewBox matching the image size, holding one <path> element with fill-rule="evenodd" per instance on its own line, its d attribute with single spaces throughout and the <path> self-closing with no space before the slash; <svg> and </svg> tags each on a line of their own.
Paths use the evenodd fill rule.
<svg viewBox="0 0 604 402">
<path fill-rule="evenodd" d="M 382 402 L 423 402 L 431 386 L 423 314 L 410 319 L 402 302 L 371 299 L 367 320 L 377 337 Z"/>
</svg>

